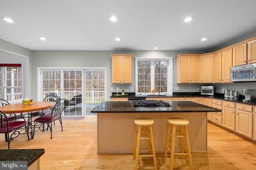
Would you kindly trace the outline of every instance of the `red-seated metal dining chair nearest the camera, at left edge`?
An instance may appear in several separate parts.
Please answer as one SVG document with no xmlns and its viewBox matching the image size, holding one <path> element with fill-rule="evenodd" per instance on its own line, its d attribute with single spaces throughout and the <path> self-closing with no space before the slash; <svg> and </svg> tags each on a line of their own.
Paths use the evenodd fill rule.
<svg viewBox="0 0 256 170">
<path fill-rule="evenodd" d="M 26 133 L 21 133 L 25 131 Z M 10 149 L 10 142 L 21 134 L 27 134 L 28 141 L 28 126 L 26 121 L 9 121 L 7 115 L 0 110 L 0 133 L 5 134 L 5 141 L 8 142 L 8 149 Z M 11 135 L 9 134 L 11 133 Z"/>
</svg>

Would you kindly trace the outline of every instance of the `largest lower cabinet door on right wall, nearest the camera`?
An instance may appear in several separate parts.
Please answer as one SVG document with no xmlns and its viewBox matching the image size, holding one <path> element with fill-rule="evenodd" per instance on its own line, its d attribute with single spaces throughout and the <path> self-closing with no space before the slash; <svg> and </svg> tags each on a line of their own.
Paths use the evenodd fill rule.
<svg viewBox="0 0 256 170">
<path fill-rule="evenodd" d="M 236 110 L 236 132 L 252 138 L 252 113 Z"/>
</svg>

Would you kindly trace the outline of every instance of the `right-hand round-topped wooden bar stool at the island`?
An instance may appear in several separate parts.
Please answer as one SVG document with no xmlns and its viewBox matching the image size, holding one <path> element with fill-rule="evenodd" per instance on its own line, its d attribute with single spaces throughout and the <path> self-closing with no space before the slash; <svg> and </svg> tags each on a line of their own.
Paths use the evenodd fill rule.
<svg viewBox="0 0 256 170">
<path fill-rule="evenodd" d="M 174 155 L 182 155 L 184 159 L 184 155 L 188 155 L 190 170 L 193 169 L 192 156 L 190 150 L 190 143 L 188 138 L 188 125 L 189 121 L 181 118 L 169 118 L 168 120 L 169 128 L 166 139 L 166 147 L 164 151 L 164 158 L 167 157 L 168 151 L 170 152 L 171 160 L 170 160 L 170 170 L 173 170 L 174 167 Z M 176 126 L 180 127 L 180 135 L 176 136 Z M 184 128 L 184 129 L 183 129 Z M 170 137 L 172 137 L 172 143 L 170 143 Z M 176 137 L 180 138 L 180 144 L 175 143 Z M 187 149 L 184 147 L 184 138 L 186 138 Z M 171 145 L 171 149 L 169 147 Z M 179 145 L 181 152 L 175 152 L 175 145 Z M 184 152 L 186 151 L 186 152 Z"/>
</svg>

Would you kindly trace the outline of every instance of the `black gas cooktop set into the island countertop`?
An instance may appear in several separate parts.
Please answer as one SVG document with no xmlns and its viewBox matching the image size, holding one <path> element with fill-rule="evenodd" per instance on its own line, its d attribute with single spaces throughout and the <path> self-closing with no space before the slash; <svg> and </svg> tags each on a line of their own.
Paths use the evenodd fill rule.
<svg viewBox="0 0 256 170">
<path fill-rule="evenodd" d="M 164 107 L 170 107 L 171 105 L 168 102 L 162 101 L 162 100 L 133 100 L 134 106 L 144 106 L 144 107 L 150 107 L 150 106 L 164 106 Z"/>
</svg>

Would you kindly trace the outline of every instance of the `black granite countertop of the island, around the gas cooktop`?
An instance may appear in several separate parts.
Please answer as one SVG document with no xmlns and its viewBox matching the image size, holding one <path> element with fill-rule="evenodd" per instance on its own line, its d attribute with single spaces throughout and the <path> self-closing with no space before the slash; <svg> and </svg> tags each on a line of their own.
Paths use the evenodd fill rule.
<svg viewBox="0 0 256 170">
<path fill-rule="evenodd" d="M 91 113 L 141 113 L 141 112 L 221 112 L 220 109 L 194 102 L 168 102 L 171 107 L 134 107 L 128 102 L 102 102 Z"/>
</svg>

